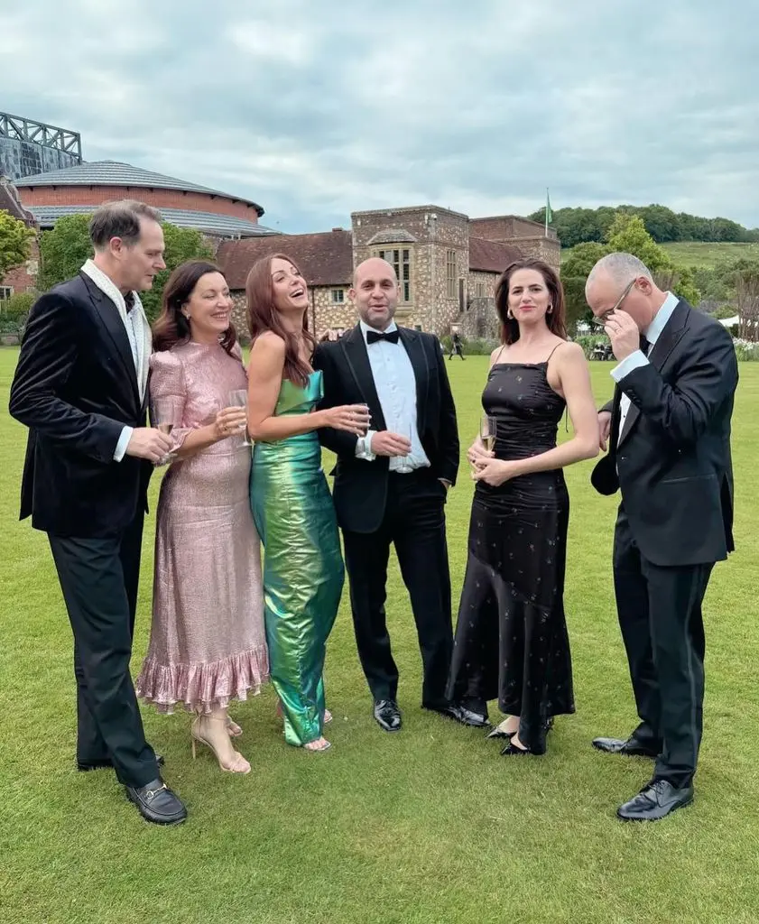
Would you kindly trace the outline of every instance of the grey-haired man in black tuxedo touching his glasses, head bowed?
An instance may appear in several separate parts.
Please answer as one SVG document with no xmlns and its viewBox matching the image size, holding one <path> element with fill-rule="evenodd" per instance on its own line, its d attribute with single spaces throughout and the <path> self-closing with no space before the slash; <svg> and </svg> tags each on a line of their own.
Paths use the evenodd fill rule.
<svg viewBox="0 0 759 924">
<path fill-rule="evenodd" d="M 658 289 L 627 253 L 598 261 L 588 304 L 619 364 L 599 414 L 597 491 L 621 491 L 614 586 L 641 723 L 609 753 L 655 759 L 651 781 L 618 808 L 655 821 L 693 798 L 704 704 L 702 602 L 715 562 L 733 551 L 730 419 L 738 384 L 732 338 Z"/>
</svg>

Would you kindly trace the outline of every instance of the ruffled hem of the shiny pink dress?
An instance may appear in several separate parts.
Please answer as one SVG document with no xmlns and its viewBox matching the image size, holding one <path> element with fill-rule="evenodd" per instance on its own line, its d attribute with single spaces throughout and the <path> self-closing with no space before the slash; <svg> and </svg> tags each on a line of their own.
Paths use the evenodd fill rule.
<svg viewBox="0 0 759 924">
<path fill-rule="evenodd" d="M 223 661 L 162 664 L 146 658 L 135 691 L 140 699 L 170 715 L 176 706 L 187 711 L 226 709 L 232 700 L 257 696 L 269 679 L 265 648 L 243 651 Z"/>
</svg>

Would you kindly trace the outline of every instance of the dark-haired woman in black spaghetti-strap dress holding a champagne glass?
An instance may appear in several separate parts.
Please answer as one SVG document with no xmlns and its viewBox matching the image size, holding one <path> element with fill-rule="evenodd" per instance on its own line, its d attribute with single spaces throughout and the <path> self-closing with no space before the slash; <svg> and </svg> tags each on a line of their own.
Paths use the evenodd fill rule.
<svg viewBox="0 0 759 924">
<path fill-rule="evenodd" d="M 512 263 L 496 286 L 503 346 L 491 357 L 484 412 L 495 451 L 469 449 L 477 482 L 447 695 L 464 722 L 508 718 L 488 737 L 504 755 L 545 754 L 553 716 L 574 712 L 564 615 L 569 495 L 562 469 L 598 454 L 598 420 L 581 346 L 566 340 L 564 294 L 543 261 Z M 565 407 L 574 436 L 557 446 Z"/>
</svg>

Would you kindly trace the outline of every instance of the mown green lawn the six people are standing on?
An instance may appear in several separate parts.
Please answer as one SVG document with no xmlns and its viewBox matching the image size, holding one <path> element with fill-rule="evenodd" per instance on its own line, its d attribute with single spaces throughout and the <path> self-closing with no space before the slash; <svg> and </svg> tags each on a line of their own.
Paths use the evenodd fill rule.
<svg viewBox="0 0 759 924">
<path fill-rule="evenodd" d="M 650 763 L 600 754 L 595 735 L 635 723 L 612 601 L 615 503 L 568 472 L 566 606 L 577 714 L 559 717 L 543 759 L 502 760 L 483 733 L 420 704 L 409 604 L 392 565 L 388 613 L 404 729 L 382 733 L 343 602 L 329 643 L 325 754 L 288 748 L 271 688 L 234 711 L 249 776 L 190 757 L 190 720 L 145 710 L 166 779 L 190 820 L 141 821 L 111 772 L 73 769 L 71 639 L 45 538 L 17 522 L 25 431 L 7 413 L 17 353 L 0 350 L 0 920 L 123 924 L 287 922 L 709 922 L 759 920 L 759 365 L 741 366 L 734 417 L 738 552 L 716 567 L 705 606 L 705 735 L 692 808 L 625 825 L 618 803 Z M 479 417 L 484 358 L 447 364 L 462 460 Z M 600 399 L 610 364 L 593 369 Z M 458 601 L 471 480 L 462 461 L 447 505 Z M 157 488 L 153 481 L 153 499 Z M 150 622 L 153 518 L 133 669 Z"/>
</svg>

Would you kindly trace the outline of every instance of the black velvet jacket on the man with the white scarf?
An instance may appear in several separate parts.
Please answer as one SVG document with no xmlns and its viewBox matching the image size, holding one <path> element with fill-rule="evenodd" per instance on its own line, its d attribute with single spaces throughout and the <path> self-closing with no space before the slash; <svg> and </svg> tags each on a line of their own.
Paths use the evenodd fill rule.
<svg viewBox="0 0 759 924">
<path fill-rule="evenodd" d="M 143 427 L 129 337 L 116 305 L 80 274 L 31 310 L 10 390 L 29 427 L 20 518 L 55 536 L 125 529 L 146 509 L 152 465 L 114 461 L 125 425 Z"/>
</svg>

